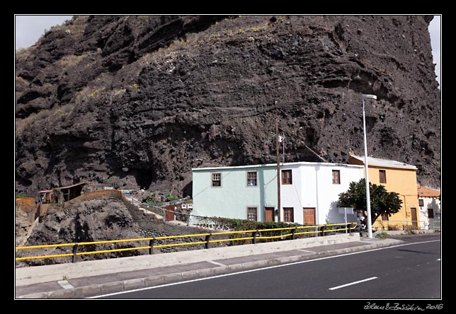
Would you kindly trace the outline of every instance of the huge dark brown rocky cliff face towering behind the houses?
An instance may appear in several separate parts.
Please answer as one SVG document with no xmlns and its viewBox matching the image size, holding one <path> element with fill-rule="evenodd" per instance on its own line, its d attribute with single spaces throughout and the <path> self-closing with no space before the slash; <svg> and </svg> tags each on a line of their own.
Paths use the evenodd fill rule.
<svg viewBox="0 0 456 314">
<path fill-rule="evenodd" d="M 363 155 L 440 187 L 432 16 L 76 16 L 16 54 L 16 191 L 191 193 L 191 168 Z M 308 148 L 307 148 L 308 147 Z M 283 148 L 281 148 L 282 150 Z"/>
</svg>

